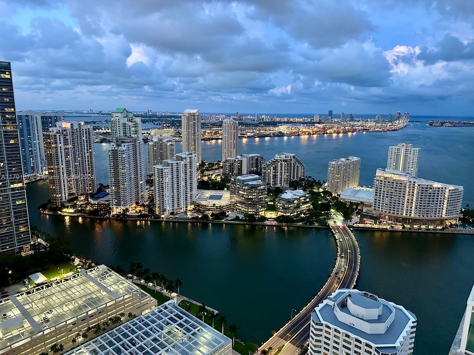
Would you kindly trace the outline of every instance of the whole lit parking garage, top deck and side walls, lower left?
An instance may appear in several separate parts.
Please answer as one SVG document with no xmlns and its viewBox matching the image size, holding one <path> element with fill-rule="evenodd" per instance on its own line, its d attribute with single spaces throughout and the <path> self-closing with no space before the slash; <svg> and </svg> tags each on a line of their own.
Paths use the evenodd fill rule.
<svg viewBox="0 0 474 355">
<path fill-rule="evenodd" d="M 73 337 L 88 327 L 102 325 L 120 313 L 139 316 L 156 303 L 105 265 L 84 270 L 1 299 L 0 354 L 40 354 L 55 343 L 68 350 Z"/>
</svg>

